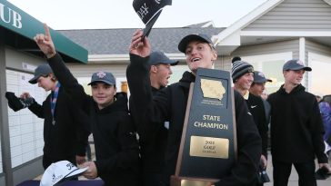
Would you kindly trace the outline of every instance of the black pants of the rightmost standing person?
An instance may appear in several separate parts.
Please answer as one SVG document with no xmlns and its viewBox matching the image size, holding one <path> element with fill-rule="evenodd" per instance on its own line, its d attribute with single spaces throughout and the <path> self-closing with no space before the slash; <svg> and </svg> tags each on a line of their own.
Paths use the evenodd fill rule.
<svg viewBox="0 0 331 186">
<path fill-rule="evenodd" d="M 286 186 L 291 174 L 292 164 L 295 166 L 299 176 L 299 186 L 316 186 L 315 162 L 279 162 L 273 160 L 274 186 Z"/>
</svg>

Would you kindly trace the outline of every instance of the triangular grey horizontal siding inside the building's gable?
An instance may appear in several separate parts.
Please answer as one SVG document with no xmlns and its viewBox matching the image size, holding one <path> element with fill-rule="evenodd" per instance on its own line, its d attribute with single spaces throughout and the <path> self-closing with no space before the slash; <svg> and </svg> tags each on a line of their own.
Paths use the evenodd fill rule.
<svg viewBox="0 0 331 186">
<path fill-rule="evenodd" d="M 243 30 L 328 31 L 331 30 L 331 6 L 323 0 L 286 0 Z"/>
</svg>

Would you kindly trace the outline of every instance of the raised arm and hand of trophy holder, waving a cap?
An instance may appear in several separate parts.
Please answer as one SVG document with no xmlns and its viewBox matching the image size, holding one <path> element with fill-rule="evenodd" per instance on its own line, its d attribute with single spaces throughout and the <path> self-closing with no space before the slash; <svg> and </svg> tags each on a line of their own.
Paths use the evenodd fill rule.
<svg viewBox="0 0 331 186">
<path fill-rule="evenodd" d="M 149 54 L 151 45 L 148 38 L 141 40 L 143 32 L 135 31 L 130 44 L 130 64 L 126 78 L 130 88 L 130 112 L 134 118 L 139 135 L 150 130 L 155 124 L 164 125 L 168 117 L 169 91 L 153 96 L 149 79 Z M 162 91 L 161 91 L 162 92 Z M 146 128 L 147 127 L 147 128 Z"/>
</svg>

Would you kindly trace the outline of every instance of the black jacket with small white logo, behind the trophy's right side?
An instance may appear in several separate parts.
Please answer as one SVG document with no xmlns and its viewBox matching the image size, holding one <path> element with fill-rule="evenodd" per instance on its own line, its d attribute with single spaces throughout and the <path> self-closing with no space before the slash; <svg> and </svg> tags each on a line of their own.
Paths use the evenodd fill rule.
<svg viewBox="0 0 331 186">
<path fill-rule="evenodd" d="M 252 93 L 249 93 L 248 100 L 246 100 L 248 109 L 252 113 L 254 122 L 256 123 L 258 133 L 262 139 L 262 154 L 267 158 L 267 122 L 266 122 L 266 110 L 265 104 L 262 101 L 262 98 L 256 96 Z"/>
</svg>

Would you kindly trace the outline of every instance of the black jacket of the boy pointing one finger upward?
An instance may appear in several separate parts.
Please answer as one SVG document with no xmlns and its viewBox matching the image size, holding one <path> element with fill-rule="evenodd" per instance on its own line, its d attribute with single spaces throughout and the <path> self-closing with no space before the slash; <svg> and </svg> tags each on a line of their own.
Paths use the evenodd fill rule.
<svg viewBox="0 0 331 186">
<path fill-rule="evenodd" d="M 93 97 L 85 93 L 59 54 L 48 59 L 48 63 L 74 102 L 90 116 L 98 176 L 106 185 L 137 185 L 139 145 L 128 113 L 126 93 L 116 93 L 115 102 L 99 110 Z"/>
</svg>

